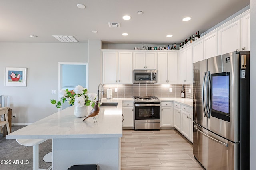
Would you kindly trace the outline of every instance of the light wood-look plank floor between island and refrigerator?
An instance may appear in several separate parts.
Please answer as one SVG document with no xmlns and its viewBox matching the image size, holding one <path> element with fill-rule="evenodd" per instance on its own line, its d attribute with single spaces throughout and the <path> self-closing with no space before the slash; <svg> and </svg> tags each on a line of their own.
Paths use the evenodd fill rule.
<svg viewBox="0 0 256 170">
<path fill-rule="evenodd" d="M 204 170 L 193 145 L 175 129 L 123 130 L 121 170 Z"/>
</svg>

